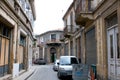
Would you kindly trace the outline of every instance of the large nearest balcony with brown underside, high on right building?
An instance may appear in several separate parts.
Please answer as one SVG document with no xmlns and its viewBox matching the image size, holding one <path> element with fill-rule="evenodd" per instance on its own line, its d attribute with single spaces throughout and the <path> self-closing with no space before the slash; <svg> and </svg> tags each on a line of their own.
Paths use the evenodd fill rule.
<svg viewBox="0 0 120 80">
<path fill-rule="evenodd" d="M 93 22 L 93 1 L 94 0 L 76 0 L 75 22 L 77 25 L 86 26 L 86 24 Z"/>
</svg>

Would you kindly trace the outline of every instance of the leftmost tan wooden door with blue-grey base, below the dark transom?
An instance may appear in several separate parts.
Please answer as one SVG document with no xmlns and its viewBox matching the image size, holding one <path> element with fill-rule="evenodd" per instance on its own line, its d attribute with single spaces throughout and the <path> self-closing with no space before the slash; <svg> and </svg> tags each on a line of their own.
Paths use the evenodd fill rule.
<svg viewBox="0 0 120 80">
<path fill-rule="evenodd" d="M 8 73 L 9 39 L 0 36 L 0 76 Z"/>
</svg>

